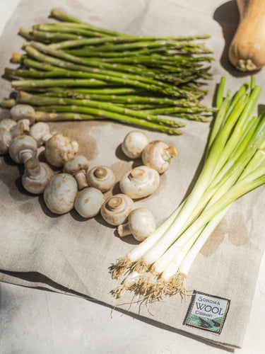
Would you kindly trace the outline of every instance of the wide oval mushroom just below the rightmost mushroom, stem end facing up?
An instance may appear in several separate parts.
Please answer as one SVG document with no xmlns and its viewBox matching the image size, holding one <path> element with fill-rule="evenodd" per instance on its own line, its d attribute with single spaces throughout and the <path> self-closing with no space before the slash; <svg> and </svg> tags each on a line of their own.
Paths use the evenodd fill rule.
<svg viewBox="0 0 265 354">
<path fill-rule="evenodd" d="M 158 171 L 148 166 L 139 166 L 122 176 L 119 188 L 122 193 L 137 199 L 151 195 L 158 188 L 159 182 Z"/>
</svg>

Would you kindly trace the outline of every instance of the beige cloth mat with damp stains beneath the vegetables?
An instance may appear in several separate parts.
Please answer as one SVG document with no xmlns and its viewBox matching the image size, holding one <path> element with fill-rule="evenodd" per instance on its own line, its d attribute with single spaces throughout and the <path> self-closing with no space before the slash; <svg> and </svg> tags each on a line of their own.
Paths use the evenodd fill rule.
<svg viewBox="0 0 265 354">
<path fill-rule="evenodd" d="M 4 67 L 13 65 L 9 62 L 12 52 L 18 52 L 23 44 L 23 38 L 17 35 L 18 28 L 54 21 L 48 18 L 52 8 L 64 9 L 83 21 L 129 34 L 211 34 L 206 44 L 213 50 L 216 62 L 211 69 L 213 80 L 208 84 L 205 100 L 208 105 L 211 105 L 220 76 L 227 77 L 227 88 L 233 91 L 246 81 L 245 77 L 226 71 L 230 67 L 224 54 L 225 40 L 229 40 L 235 28 L 237 12 L 235 6 L 225 8 L 220 0 L 129 0 L 126 6 L 124 0 L 21 0 L 1 37 L 1 73 Z M 0 80 L 0 98 L 8 97 L 11 85 L 4 78 Z M 256 81 L 264 87 L 264 71 L 257 74 Z M 259 103 L 264 102 L 263 92 Z M 2 111 L 1 117 L 5 114 Z M 132 130 L 129 126 L 97 121 L 58 122 L 50 126 L 52 131 L 76 139 L 80 154 L 88 158 L 91 167 L 96 164 L 112 167 L 117 181 L 133 165 L 120 149 L 124 136 Z M 157 224 L 175 210 L 194 181 L 204 154 L 208 128 L 206 123 L 187 122 L 184 134 L 179 137 L 146 131 L 150 140 L 162 139 L 167 144 L 175 144 L 179 151 L 179 156 L 161 177 L 160 188 L 136 202 L 136 206 L 148 207 L 153 212 Z M 100 216 L 83 220 L 74 211 L 53 215 L 47 210 L 42 195 L 33 196 L 23 190 L 22 173 L 22 166 L 8 156 L 0 156 L 0 280 L 92 297 L 134 314 L 140 311 L 141 316 L 153 319 L 154 323 L 187 331 L 222 346 L 242 346 L 265 244 L 264 187 L 232 205 L 199 253 L 187 279 L 190 290 L 230 300 L 218 335 L 183 324 L 190 297 L 184 302 L 174 296 L 150 304 L 148 308 L 134 303 L 137 298 L 131 293 L 114 299 L 110 291 L 119 282 L 112 280 L 108 268 L 117 258 L 125 256 L 136 241 L 132 236 L 120 239 L 114 227 L 107 226 Z M 107 195 L 118 190 L 115 185 Z"/>
</svg>

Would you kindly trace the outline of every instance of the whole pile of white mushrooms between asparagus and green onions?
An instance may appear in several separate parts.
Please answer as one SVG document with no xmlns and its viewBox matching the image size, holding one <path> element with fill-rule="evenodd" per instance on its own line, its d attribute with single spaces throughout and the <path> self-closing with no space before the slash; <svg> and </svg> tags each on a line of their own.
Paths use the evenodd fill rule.
<svg viewBox="0 0 265 354">
<path fill-rule="evenodd" d="M 155 220 L 134 200 L 151 195 L 158 188 L 160 174 L 177 155 L 175 146 L 165 142 L 149 142 L 145 133 L 134 130 L 122 142 L 122 151 L 129 159 L 142 159 L 143 164 L 122 176 L 122 193 L 105 198 L 116 178 L 110 167 L 89 169 L 86 156 L 78 155 L 78 142 L 61 133 L 52 134 L 45 122 L 35 123 L 35 110 L 30 105 L 15 105 L 11 117 L 0 121 L 0 154 L 8 154 L 17 164 L 24 164 L 22 184 L 33 194 L 43 193 L 47 208 L 63 215 L 73 208 L 81 217 L 102 218 L 117 227 L 119 236 L 132 234 L 138 241 L 155 231 Z M 44 148 L 47 163 L 38 158 Z M 59 169 L 59 171 L 58 171 Z M 54 173 L 55 170 L 55 173 Z"/>
</svg>

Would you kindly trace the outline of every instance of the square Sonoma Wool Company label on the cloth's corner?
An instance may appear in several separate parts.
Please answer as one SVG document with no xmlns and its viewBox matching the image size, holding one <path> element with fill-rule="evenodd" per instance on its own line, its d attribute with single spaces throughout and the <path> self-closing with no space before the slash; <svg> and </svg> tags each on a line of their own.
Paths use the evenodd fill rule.
<svg viewBox="0 0 265 354">
<path fill-rule="evenodd" d="M 194 290 L 183 324 L 220 334 L 229 306 L 228 299 Z"/>
</svg>

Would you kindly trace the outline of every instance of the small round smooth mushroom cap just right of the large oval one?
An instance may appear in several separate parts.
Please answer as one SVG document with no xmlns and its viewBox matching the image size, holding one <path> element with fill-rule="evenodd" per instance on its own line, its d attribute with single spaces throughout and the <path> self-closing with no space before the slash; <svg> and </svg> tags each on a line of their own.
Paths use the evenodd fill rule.
<svg viewBox="0 0 265 354">
<path fill-rule="evenodd" d="M 103 198 L 100 190 L 93 187 L 84 188 L 77 193 L 74 207 L 81 217 L 95 217 L 100 212 Z"/>
</svg>

